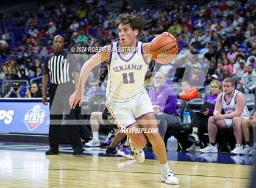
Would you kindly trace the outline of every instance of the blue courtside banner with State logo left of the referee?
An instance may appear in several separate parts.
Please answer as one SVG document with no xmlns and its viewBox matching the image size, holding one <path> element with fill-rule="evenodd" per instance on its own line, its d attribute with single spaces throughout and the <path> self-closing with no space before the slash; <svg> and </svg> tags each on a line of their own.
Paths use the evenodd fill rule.
<svg viewBox="0 0 256 188">
<path fill-rule="evenodd" d="M 48 134 L 49 104 L 39 101 L 0 101 L 0 132 Z"/>
</svg>

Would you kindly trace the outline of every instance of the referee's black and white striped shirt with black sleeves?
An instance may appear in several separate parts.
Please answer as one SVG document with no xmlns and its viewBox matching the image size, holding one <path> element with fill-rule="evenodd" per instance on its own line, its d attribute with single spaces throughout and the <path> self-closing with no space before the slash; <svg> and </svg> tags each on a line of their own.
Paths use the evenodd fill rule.
<svg viewBox="0 0 256 188">
<path fill-rule="evenodd" d="M 72 72 L 79 72 L 77 59 L 63 50 L 59 55 L 51 53 L 44 60 L 44 74 L 50 75 L 53 84 L 73 80 Z"/>
</svg>

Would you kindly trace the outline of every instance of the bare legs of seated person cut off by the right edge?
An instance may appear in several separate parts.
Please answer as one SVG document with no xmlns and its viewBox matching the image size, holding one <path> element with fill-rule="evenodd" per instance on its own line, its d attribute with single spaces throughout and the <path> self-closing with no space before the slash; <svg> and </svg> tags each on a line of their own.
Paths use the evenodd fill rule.
<svg viewBox="0 0 256 188">
<path fill-rule="evenodd" d="M 252 127 L 254 129 L 254 146 L 252 146 L 252 149 L 249 147 L 250 144 L 250 131 L 249 127 Z M 245 119 L 242 122 L 242 130 L 243 130 L 243 136 L 245 141 L 245 150 L 248 151 L 248 155 L 256 155 L 256 112 L 254 112 L 254 115 L 250 119 Z"/>
</svg>

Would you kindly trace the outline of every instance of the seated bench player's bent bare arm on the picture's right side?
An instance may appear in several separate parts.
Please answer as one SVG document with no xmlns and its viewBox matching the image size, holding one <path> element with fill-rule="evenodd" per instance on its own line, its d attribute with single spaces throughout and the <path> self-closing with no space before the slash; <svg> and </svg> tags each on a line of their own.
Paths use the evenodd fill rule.
<svg viewBox="0 0 256 188">
<path fill-rule="evenodd" d="M 222 115 L 223 118 L 233 118 L 233 117 L 241 116 L 241 113 L 244 110 L 244 106 L 246 105 L 246 100 L 243 93 L 240 93 L 240 92 L 237 93 L 235 101 L 236 101 L 235 112 L 224 114 Z"/>
</svg>

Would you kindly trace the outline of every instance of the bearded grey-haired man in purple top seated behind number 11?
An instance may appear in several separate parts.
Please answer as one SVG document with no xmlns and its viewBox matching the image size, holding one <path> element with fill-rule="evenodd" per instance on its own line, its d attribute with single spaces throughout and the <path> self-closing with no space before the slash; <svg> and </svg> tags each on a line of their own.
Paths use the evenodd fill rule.
<svg viewBox="0 0 256 188">
<path fill-rule="evenodd" d="M 154 89 L 149 91 L 154 113 L 160 119 L 158 130 L 163 140 L 168 126 L 180 121 L 177 107 L 177 96 L 174 90 L 165 83 L 165 75 L 161 72 L 155 73 Z"/>
</svg>

